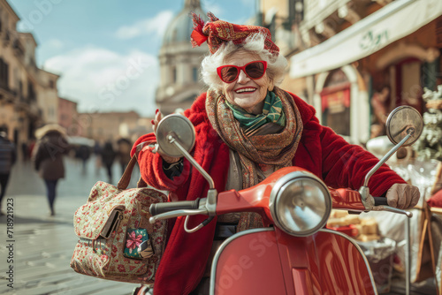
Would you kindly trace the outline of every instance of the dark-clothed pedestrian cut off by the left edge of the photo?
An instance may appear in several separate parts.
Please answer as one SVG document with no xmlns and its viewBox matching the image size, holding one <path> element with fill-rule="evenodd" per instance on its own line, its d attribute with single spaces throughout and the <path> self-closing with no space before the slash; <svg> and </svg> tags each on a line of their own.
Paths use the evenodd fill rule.
<svg viewBox="0 0 442 295">
<path fill-rule="evenodd" d="M 8 140 L 6 129 L 0 130 L 0 216 L 4 215 L 2 209 L 2 200 L 6 193 L 9 177 L 11 175 L 12 165 L 15 163 L 16 152 L 15 145 Z"/>
</svg>

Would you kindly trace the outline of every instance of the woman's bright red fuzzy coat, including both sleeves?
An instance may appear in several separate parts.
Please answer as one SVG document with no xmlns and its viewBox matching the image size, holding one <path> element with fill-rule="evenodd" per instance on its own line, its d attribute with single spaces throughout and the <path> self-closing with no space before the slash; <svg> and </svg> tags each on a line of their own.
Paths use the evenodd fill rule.
<svg viewBox="0 0 442 295">
<path fill-rule="evenodd" d="M 330 128 L 322 126 L 315 117 L 315 109 L 296 95 L 293 100 L 301 113 L 303 132 L 293 158 L 293 165 L 302 167 L 322 178 L 332 187 L 358 189 L 367 172 L 377 163 L 377 158 L 362 147 L 350 145 Z M 209 172 L 215 182 L 217 192 L 225 190 L 229 168 L 229 147 L 219 138 L 210 125 L 205 110 L 206 94 L 196 99 L 186 117 L 194 124 L 196 142 L 194 159 Z M 141 136 L 133 146 L 143 141 L 155 140 L 153 133 Z M 209 185 L 202 175 L 194 170 L 187 160 L 179 177 L 173 181 L 164 175 L 162 158 L 152 154 L 148 148 L 141 150 L 138 162 L 142 178 L 161 190 L 175 193 L 178 200 L 195 200 L 206 197 Z M 370 178 L 370 193 L 380 196 L 395 183 L 405 183 L 386 165 Z M 189 228 L 204 220 L 205 216 L 190 218 Z M 156 272 L 155 294 L 187 294 L 199 283 L 210 254 L 215 231 L 215 222 L 202 230 L 188 234 L 184 231 L 185 218 L 177 218 L 171 230 L 161 264 Z"/>
</svg>

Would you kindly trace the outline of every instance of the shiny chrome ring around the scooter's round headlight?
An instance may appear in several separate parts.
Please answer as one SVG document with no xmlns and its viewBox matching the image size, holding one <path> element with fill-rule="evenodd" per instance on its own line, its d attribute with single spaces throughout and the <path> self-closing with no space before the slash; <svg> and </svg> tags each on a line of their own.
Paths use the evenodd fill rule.
<svg viewBox="0 0 442 295">
<path fill-rule="evenodd" d="M 300 180 L 313 180 L 317 184 L 318 188 L 324 193 L 326 212 L 321 222 L 318 223 L 313 229 L 307 231 L 293 231 L 292 229 L 286 227 L 286 225 L 280 221 L 277 214 L 278 200 L 279 197 L 281 196 L 281 193 L 284 192 L 286 187 L 292 185 L 293 182 Z M 271 189 L 269 208 L 271 211 L 271 217 L 273 218 L 273 221 L 282 231 L 285 231 L 287 234 L 293 237 L 308 237 L 315 234 L 317 231 L 321 230 L 322 228 L 324 228 L 324 225 L 327 223 L 331 214 L 331 194 L 327 186 L 324 185 L 324 182 L 320 178 L 317 178 L 314 174 L 304 170 L 293 171 L 287 174 L 286 176 L 279 178 L 276 184 Z"/>
</svg>

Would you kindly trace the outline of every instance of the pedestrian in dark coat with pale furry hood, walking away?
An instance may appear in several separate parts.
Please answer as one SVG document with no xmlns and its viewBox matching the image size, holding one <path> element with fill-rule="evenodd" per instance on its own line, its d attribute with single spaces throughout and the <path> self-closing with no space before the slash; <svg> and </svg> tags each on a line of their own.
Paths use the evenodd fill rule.
<svg viewBox="0 0 442 295">
<path fill-rule="evenodd" d="M 34 167 L 44 180 L 50 205 L 50 216 L 55 215 L 54 202 L 57 196 L 57 182 L 65 178 L 63 156 L 69 152 L 65 129 L 60 125 L 45 125 L 35 132 Z"/>
</svg>

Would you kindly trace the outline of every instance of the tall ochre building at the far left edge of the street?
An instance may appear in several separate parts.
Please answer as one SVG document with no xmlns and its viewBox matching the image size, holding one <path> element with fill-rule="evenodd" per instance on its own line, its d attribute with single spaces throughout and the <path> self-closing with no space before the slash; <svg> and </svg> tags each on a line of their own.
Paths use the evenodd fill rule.
<svg viewBox="0 0 442 295">
<path fill-rule="evenodd" d="M 58 76 L 37 67 L 37 42 L 33 34 L 17 31 L 18 21 L 11 5 L 0 0 L 0 127 L 19 147 L 44 123 L 57 122 Z"/>
</svg>

